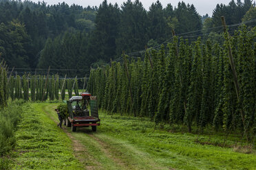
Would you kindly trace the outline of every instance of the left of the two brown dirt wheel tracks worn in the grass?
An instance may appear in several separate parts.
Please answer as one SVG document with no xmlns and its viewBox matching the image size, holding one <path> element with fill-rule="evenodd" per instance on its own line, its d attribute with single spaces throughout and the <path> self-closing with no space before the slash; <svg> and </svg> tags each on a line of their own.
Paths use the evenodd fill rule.
<svg viewBox="0 0 256 170">
<path fill-rule="evenodd" d="M 54 110 L 54 107 L 52 107 L 52 108 Z M 48 117 L 50 117 L 50 119 L 52 119 L 52 121 L 54 121 L 56 124 L 58 124 L 58 122 L 52 117 L 52 115 L 49 114 L 47 112 L 47 110 L 45 110 L 45 106 L 43 106 L 43 111 L 45 112 L 45 114 L 48 115 Z M 87 159 L 90 160 L 90 162 L 95 162 L 96 165 L 94 165 L 94 166 L 87 165 L 87 161 L 85 160 L 85 158 L 83 158 L 84 154 L 88 153 L 87 149 L 84 147 L 83 144 L 81 144 L 80 141 L 76 140 L 76 138 L 74 138 L 74 136 L 72 136 L 72 134 L 67 131 L 67 127 L 65 127 L 65 126 L 62 127 L 62 130 L 71 139 L 72 150 L 73 150 L 74 156 L 79 160 L 79 162 L 81 162 L 83 165 L 85 165 L 85 169 L 88 169 L 88 170 L 103 169 L 100 165 L 100 162 L 97 162 L 96 160 L 94 160 L 94 158 L 92 158 L 92 156 L 90 156 L 89 154 L 87 154 Z"/>
</svg>

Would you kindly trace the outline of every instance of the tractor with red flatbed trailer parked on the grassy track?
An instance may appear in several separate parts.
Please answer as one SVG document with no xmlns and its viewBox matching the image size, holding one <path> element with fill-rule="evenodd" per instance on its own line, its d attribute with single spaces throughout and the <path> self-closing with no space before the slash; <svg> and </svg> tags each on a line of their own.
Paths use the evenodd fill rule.
<svg viewBox="0 0 256 170">
<path fill-rule="evenodd" d="M 96 97 L 90 93 L 82 93 L 81 96 L 73 96 L 67 101 L 69 117 L 67 126 L 72 127 L 72 132 L 76 132 L 76 127 L 92 126 L 92 131 L 96 132 L 100 125 L 98 119 L 98 106 Z"/>
</svg>

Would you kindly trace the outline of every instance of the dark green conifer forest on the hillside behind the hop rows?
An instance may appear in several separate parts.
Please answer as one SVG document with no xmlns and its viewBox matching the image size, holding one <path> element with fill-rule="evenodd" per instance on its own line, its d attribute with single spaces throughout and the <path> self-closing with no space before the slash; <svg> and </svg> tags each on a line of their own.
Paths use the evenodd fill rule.
<svg viewBox="0 0 256 170">
<path fill-rule="evenodd" d="M 65 2 L 1 0 L 0 53 L 21 76 L 28 72 L 46 75 L 51 66 L 52 74 L 84 77 L 90 67 L 109 64 L 123 52 L 135 55 L 145 47 L 168 42 L 172 29 L 177 35 L 190 32 L 183 35 L 189 42 L 198 36 L 204 41 L 218 40 L 220 16 L 226 17 L 227 25 L 252 21 L 255 3 L 232 0 L 228 5 L 217 4 L 211 15 L 200 16 L 193 4 L 183 1 L 167 7 L 156 1 L 147 11 L 138 0 L 120 6 L 105 0 L 98 7 L 86 8 Z M 234 29 L 237 27 L 231 27 L 231 34 Z"/>
</svg>

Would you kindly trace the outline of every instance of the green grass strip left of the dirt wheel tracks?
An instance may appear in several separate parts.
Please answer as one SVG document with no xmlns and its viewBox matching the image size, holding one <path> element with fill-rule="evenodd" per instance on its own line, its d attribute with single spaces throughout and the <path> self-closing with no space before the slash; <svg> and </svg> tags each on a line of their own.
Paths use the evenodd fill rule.
<svg viewBox="0 0 256 170">
<path fill-rule="evenodd" d="M 74 158 L 70 138 L 41 109 L 23 106 L 13 169 L 83 169 Z"/>
</svg>

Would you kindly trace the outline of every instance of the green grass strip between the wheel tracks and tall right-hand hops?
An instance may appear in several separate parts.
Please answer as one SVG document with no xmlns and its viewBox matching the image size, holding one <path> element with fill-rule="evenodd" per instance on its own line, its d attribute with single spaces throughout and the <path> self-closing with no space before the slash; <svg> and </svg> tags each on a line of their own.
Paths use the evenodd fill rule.
<svg viewBox="0 0 256 170">
<path fill-rule="evenodd" d="M 255 154 L 242 154 L 230 147 L 201 145 L 198 135 L 154 130 L 146 119 L 111 116 L 101 113 L 101 125 L 95 134 L 102 141 L 114 145 L 131 145 L 151 158 L 152 162 L 169 169 L 255 169 Z M 200 138 L 210 138 L 201 135 Z M 211 136 L 216 141 L 220 136 Z M 227 141 L 231 143 L 232 141 Z M 233 141 L 234 142 L 234 141 Z M 117 149 L 120 149 L 118 147 Z"/>
</svg>

